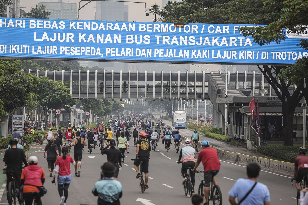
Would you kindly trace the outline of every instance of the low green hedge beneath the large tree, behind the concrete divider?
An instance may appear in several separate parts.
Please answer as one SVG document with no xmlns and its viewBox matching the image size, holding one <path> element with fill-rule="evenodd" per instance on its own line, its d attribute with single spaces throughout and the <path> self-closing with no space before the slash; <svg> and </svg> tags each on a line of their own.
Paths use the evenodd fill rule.
<svg viewBox="0 0 308 205">
<path fill-rule="evenodd" d="M 258 146 L 257 151 L 277 157 L 283 161 L 294 162 L 295 157 L 298 156 L 298 148 L 299 146 L 286 146 L 286 145 L 263 145 Z"/>
</svg>

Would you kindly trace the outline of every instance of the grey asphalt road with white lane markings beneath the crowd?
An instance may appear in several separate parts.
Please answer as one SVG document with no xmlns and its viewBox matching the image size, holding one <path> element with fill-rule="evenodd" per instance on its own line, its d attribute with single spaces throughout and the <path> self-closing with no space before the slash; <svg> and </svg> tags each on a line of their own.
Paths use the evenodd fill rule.
<svg viewBox="0 0 308 205">
<path fill-rule="evenodd" d="M 172 144 L 174 145 L 174 144 Z M 180 147 L 183 147 L 181 144 Z M 170 147 L 171 148 L 171 147 Z M 43 149 L 43 147 L 42 147 Z M 133 170 L 133 161 L 130 159 L 135 156 L 134 146 L 130 145 L 129 154 L 125 155 L 125 163 L 119 174 L 119 181 L 123 186 L 123 197 L 120 199 L 123 205 L 160 205 L 160 204 L 191 204 L 191 199 L 184 195 L 182 186 L 182 177 L 180 176 L 181 165 L 176 164 L 179 154 L 175 153 L 174 148 L 166 152 L 161 141 L 158 142 L 158 150 L 151 152 L 151 159 L 149 162 L 149 189 L 144 194 L 139 188 L 139 180 L 135 179 L 136 172 Z M 38 150 L 31 155 L 36 155 L 39 158 L 39 165 L 46 171 L 46 182 L 44 186 L 47 188 L 47 195 L 43 196 L 43 204 L 54 205 L 59 204 L 60 197 L 55 184 L 51 183 L 51 177 L 48 175 L 48 165 L 45 158 L 43 158 L 43 150 Z M 72 149 L 73 155 L 73 149 Z M 91 157 L 90 157 L 91 156 Z M 197 159 L 197 156 L 196 156 Z M 69 197 L 67 205 L 71 204 L 96 204 L 97 197 L 92 195 L 91 190 L 94 183 L 99 179 L 100 166 L 106 162 L 106 156 L 100 155 L 99 150 L 95 149 L 92 154 L 87 152 L 87 148 L 83 152 L 81 176 L 75 177 L 74 166 L 71 165 L 72 183 L 69 187 Z M 3 166 L 3 163 L 0 163 Z M 198 170 L 203 170 L 201 165 Z M 221 161 L 221 171 L 217 175 L 217 181 L 221 187 L 223 194 L 223 204 L 229 204 L 228 191 L 233 186 L 238 178 L 245 178 L 245 166 L 232 164 Z M 200 183 L 202 175 L 196 174 L 195 190 Z M 266 184 L 269 187 L 271 194 L 271 204 L 295 204 L 296 200 L 292 197 L 296 194 L 294 186 L 290 185 L 290 178 L 270 172 L 262 171 L 259 182 Z M 7 204 L 6 191 L 1 196 L 1 204 Z M 136 201 L 138 198 L 151 200 L 151 203 L 142 203 Z M 142 200 L 141 199 L 141 200 Z"/>
</svg>

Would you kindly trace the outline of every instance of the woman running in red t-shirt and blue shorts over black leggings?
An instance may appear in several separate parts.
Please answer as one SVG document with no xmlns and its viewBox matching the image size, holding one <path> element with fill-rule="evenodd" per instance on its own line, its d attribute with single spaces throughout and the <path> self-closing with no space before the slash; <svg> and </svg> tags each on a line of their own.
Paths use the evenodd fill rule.
<svg viewBox="0 0 308 205">
<path fill-rule="evenodd" d="M 66 205 L 68 187 L 72 181 L 70 163 L 75 165 L 76 162 L 70 157 L 70 153 L 66 147 L 62 148 L 62 155 L 56 161 L 53 180 L 55 180 L 56 174 L 58 173 L 58 192 L 61 197 L 60 205 Z"/>
</svg>

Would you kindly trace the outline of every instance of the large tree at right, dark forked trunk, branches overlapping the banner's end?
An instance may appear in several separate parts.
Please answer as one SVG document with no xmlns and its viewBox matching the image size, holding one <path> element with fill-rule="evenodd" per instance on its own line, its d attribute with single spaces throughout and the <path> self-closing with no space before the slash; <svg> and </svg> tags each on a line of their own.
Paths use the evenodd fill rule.
<svg viewBox="0 0 308 205">
<path fill-rule="evenodd" d="M 253 37 L 253 41 L 257 44 L 268 45 L 272 42 L 280 43 L 286 39 L 286 32 L 290 33 L 304 33 L 306 32 L 308 26 L 308 14 L 307 14 L 307 6 L 308 2 L 306 0 L 294 0 L 294 1 L 280 1 L 280 0 L 268 0 L 264 2 L 264 7 L 267 10 L 271 10 L 272 13 L 270 16 L 272 18 L 276 18 L 275 21 L 270 22 L 268 26 L 257 26 L 257 27 L 242 27 L 240 31 L 242 34 L 246 36 Z M 308 49 L 308 41 L 307 39 L 301 39 L 298 43 L 298 46 L 302 47 L 304 50 Z M 302 59 L 298 59 L 293 65 L 287 67 L 279 67 L 275 66 L 276 74 L 280 82 L 284 81 L 283 79 L 287 78 L 287 83 L 285 83 L 285 87 L 280 87 L 276 94 L 279 99 L 282 101 L 282 112 L 283 119 L 285 123 L 285 145 L 293 145 L 291 142 L 292 132 L 293 132 L 293 116 L 294 110 L 293 107 L 299 100 L 304 96 L 308 99 L 307 89 L 303 86 L 304 79 L 308 79 L 308 75 L 306 73 L 308 68 L 308 60 L 307 57 L 303 57 Z M 260 69 L 261 70 L 261 69 Z M 262 70 L 261 70 L 262 71 Z M 271 77 L 271 81 L 275 82 L 276 77 Z M 295 91 L 299 92 L 298 89 L 302 92 L 301 94 L 295 95 L 295 98 L 290 98 L 289 91 L 286 89 L 290 86 L 291 83 L 295 83 L 297 88 Z M 272 86 L 272 84 L 270 83 Z M 288 99 L 289 97 L 289 99 Z M 286 101 L 293 101 L 288 102 Z M 285 105 L 284 105 L 285 104 Z M 292 104 L 294 104 L 292 106 Z M 288 107 L 291 106 L 291 107 Z"/>
</svg>

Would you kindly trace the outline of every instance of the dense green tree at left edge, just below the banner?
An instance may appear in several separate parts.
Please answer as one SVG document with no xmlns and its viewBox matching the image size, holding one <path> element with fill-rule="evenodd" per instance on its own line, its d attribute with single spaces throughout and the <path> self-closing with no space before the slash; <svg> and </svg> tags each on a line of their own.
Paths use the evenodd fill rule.
<svg viewBox="0 0 308 205">
<path fill-rule="evenodd" d="M 18 60 L 0 60 L 0 116 L 27 106 L 37 84 L 38 78 L 23 73 Z"/>
</svg>

